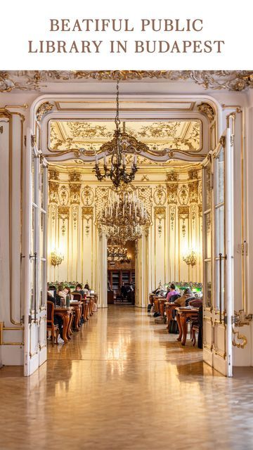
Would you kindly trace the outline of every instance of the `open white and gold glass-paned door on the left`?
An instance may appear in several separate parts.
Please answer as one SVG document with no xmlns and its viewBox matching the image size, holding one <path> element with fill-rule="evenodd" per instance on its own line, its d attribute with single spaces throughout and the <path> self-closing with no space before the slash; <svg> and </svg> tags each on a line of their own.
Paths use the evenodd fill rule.
<svg viewBox="0 0 253 450">
<path fill-rule="evenodd" d="M 27 130 L 25 252 L 25 365 L 31 375 L 46 361 L 47 168 Z"/>
</svg>

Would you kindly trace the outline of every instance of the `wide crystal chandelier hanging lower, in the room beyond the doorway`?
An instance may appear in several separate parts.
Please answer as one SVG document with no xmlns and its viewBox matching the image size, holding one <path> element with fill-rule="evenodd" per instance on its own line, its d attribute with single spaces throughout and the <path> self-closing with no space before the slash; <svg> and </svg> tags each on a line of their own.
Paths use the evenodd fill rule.
<svg viewBox="0 0 253 450">
<path fill-rule="evenodd" d="M 105 209 L 101 213 L 100 224 L 111 227 L 144 226 L 149 222 L 148 212 L 135 193 L 124 191 L 111 193 Z"/>
</svg>

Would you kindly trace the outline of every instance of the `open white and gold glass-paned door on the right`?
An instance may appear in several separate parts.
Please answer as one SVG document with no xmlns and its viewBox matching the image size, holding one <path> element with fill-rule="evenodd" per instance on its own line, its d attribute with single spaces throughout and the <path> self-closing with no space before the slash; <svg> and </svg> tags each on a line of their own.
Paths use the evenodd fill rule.
<svg viewBox="0 0 253 450">
<path fill-rule="evenodd" d="M 231 130 L 203 162 L 203 358 L 232 373 L 233 147 Z"/>
</svg>

